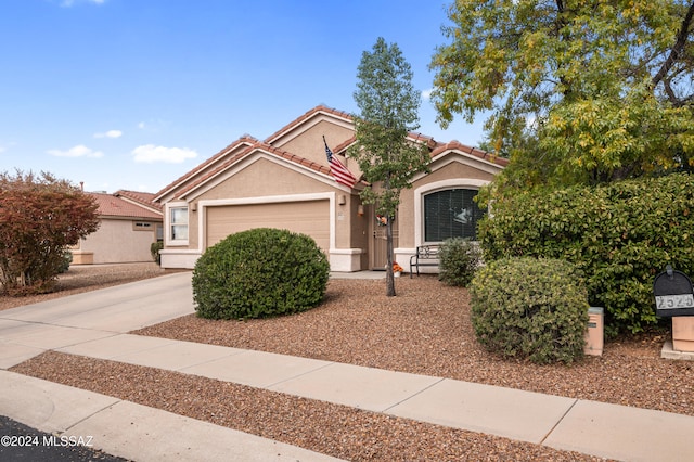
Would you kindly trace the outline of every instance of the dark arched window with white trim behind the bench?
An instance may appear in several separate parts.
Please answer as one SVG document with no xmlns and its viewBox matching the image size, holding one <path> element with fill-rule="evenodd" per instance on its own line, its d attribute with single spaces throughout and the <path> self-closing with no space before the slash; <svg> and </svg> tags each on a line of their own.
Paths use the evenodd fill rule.
<svg viewBox="0 0 694 462">
<path fill-rule="evenodd" d="M 449 238 L 476 239 L 481 210 L 474 201 L 477 190 L 450 189 L 424 196 L 424 241 L 441 242 Z"/>
</svg>

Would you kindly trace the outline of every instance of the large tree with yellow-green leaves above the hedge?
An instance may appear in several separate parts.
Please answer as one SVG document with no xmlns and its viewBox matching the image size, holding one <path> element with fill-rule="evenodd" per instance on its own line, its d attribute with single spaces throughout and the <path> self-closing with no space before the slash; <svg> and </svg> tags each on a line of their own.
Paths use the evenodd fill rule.
<svg viewBox="0 0 694 462">
<path fill-rule="evenodd" d="M 502 183 L 599 183 L 687 168 L 694 154 L 691 0 L 455 1 L 433 101 L 487 119 Z"/>
</svg>

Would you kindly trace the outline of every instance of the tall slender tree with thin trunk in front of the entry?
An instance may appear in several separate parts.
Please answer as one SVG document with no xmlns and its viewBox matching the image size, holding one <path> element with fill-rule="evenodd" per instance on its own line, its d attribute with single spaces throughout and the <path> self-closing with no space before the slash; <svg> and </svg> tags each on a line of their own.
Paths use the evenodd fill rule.
<svg viewBox="0 0 694 462">
<path fill-rule="evenodd" d="M 393 274 L 393 220 L 400 192 L 428 168 L 428 147 L 408 139 L 419 128 L 421 93 L 412 86 L 412 69 L 396 43 L 380 37 L 371 52 L 364 51 L 357 74 L 355 101 L 356 143 L 348 156 L 359 164 L 369 187 L 360 193 L 386 221 L 386 294 L 396 295 Z"/>
</svg>

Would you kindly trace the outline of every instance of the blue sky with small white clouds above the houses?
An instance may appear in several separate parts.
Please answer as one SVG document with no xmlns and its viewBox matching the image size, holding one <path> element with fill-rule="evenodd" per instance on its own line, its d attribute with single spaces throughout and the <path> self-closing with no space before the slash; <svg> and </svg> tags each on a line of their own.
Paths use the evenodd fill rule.
<svg viewBox="0 0 694 462">
<path fill-rule="evenodd" d="M 157 192 L 248 133 L 357 113 L 361 53 L 396 42 L 432 88 L 444 0 L 2 0 L 0 171 Z M 476 145 L 481 123 L 419 131 Z"/>
</svg>

